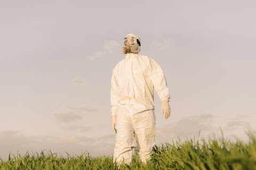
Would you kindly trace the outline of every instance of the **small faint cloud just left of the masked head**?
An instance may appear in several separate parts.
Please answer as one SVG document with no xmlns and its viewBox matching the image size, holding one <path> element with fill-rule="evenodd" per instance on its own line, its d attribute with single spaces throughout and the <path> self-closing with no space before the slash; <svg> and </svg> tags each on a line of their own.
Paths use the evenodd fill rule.
<svg viewBox="0 0 256 170">
<path fill-rule="evenodd" d="M 111 53 L 113 53 L 113 49 L 118 46 L 119 45 L 116 40 L 110 40 L 104 44 L 103 50 L 93 53 L 88 58 L 92 61 L 92 60 L 95 60 L 96 58 L 99 58 L 103 55 L 111 54 Z"/>
</svg>

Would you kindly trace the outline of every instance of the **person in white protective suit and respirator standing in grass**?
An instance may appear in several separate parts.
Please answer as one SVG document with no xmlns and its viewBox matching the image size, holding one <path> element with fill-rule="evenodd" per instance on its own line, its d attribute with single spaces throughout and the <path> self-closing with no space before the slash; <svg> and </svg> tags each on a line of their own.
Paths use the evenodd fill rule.
<svg viewBox="0 0 256 170">
<path fill-rule="evenodd" d="M 111 126 L 116 133 L 113 163 L 132 162 L 132 150 L 146 164 L 155 145 L 154 88 L 162 101 L 161 112 L 170 116 L 170 90 L 162 67 L 151 57 L 138 54 L 140 38 L 124 38 L 125 58 L 112 71 Z"/>
</svg>

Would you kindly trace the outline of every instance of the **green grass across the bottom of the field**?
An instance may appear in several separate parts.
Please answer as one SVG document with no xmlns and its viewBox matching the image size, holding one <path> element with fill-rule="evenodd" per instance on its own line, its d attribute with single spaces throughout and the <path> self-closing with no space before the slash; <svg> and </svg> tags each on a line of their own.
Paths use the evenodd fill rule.
<svg viewBox="0 0 256 170">
<path fill-rule="evenodd" d="M 153 155 L 147 165 L 139 162 L 134 155 L 131 165 L 122 165 L 121 169 L 256 169 L 256 139 L 253 133 L 246 133 L 249 142 L 241 140 L 230 142 L 223 138 L 202 138 L 202 143 L 192 138 L 184 142 L 172 141 L 162 146 L 154 146 Z M 67 153 L 67 152 L 66 152 Z M 11 154 L 11 153 L 10 153 Z M 118 169 L 112 163 L 110 156 L 91 157 L 89 152 L 85 155 L 67 158 L 57 157 L 56 153 L 48 155 L 41 151 L 34 155 L 28 152 L 23 157 L 11 158 L 0 163 L 0 169 Z M 18 155 L 18 154 L 17 154 Z M 1 159 L 2 160 L 2 159 Z"/>
</svg>

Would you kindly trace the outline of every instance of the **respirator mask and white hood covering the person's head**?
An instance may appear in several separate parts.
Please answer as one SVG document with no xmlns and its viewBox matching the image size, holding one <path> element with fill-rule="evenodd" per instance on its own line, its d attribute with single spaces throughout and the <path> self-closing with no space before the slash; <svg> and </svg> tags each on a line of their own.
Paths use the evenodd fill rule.
<svg viewBox="0 0 256 170">
<path fill-rule="evenodd" d="M 127 35 L 124 38 L 124 53 L 139 53 L 140 52 L 140 39 L 137 36 Z"/>
</svg>

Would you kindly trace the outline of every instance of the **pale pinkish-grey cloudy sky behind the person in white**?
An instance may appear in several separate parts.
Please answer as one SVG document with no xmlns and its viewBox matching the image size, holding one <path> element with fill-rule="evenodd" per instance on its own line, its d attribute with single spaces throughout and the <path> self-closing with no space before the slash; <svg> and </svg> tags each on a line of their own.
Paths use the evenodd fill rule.
<svg viewBox="0 0 256 170">
<path fill-rule="evenodd" d="M 113 155 L 110 79 L 134 33 L 170 89 L 156 144 L 256 133 L 255 1 L 1 1 L 0 157 Z M 200 132 L 200 133 L 199 133 Z"/>
</svg>

